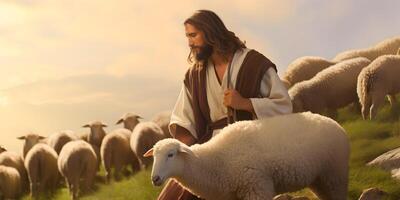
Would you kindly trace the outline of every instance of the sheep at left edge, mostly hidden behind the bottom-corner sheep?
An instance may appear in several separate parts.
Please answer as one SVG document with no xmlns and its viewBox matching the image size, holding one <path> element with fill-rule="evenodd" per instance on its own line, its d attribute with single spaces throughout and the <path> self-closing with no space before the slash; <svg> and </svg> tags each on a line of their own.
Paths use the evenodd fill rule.
<svg viewBox="0 0 400 200">
<path fill-rule="evenodd" d="M 21 155 L 11 151 L 5 151 L 0 154 L 0 165 L 15 168 L 18 171 L 21 178 L 22 190 L 28 191 L 29 189 L 28 174 L 26 172 L 24 166 L 24 160 Z"/>
</svg>

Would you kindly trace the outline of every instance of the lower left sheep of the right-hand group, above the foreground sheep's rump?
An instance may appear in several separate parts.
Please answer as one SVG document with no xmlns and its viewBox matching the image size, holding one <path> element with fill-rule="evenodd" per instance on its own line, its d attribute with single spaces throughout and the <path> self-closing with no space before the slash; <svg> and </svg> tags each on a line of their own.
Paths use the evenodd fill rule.
<svg viewBox="0 0 400 200">
<path fill-rule="evenodd" d="M 293 112 L 328 111 L 330 117 L 335 117 L 336 109 L 358 102 L 357 76 L 369 63 L 366 58 L 346 60 L 297 83 L 289 90 Z"/>
</svg>

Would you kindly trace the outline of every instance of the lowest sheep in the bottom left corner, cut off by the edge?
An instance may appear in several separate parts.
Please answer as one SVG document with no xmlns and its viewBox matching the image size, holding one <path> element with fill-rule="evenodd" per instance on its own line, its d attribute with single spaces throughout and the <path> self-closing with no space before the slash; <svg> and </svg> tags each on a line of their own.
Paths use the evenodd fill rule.
<svg viewBox="0 0 400 200">
<path fill-rule="evenodd" d="M 0 165 L 0 198 L 17 199 L 20 194 L 21 180 L 18 171 L 12 167 Z"/>
</svg>

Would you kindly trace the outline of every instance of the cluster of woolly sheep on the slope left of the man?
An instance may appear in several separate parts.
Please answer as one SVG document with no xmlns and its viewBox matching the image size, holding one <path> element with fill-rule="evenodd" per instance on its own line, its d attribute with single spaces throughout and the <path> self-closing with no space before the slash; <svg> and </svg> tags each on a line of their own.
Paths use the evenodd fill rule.
<svg viewBox="0 0 400 200">
<path fill-rule="evenodd" d="M 142 155 L 157 141 L 170 137 L 170 112 L 161 112 L 151 121 L 139 119 L 127 113 L 116 123 L 124 128 L 110 133 L 100 121 L 84 125 L 90 128 L 84 134 L 60 131 L 43 137 L 30 133 L 18 137 L 24 140 L 22 155 L 0 147 L 0 198 L 15 199 L 28 191 L 38 197 L 41 192 L 53 192 L 65 180 L 76 199 L 80 191 L 91 190 L 101 164 L 107 183 L 112 177 L 119 180 L 121 174 L 151 166 L 152 158 Z"/>
</svg>

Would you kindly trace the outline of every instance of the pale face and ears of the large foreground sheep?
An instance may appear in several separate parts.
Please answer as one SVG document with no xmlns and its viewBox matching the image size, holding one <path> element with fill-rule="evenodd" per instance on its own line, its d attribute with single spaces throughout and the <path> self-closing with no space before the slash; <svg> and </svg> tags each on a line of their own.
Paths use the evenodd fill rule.
<svg viewBox="0 0 400 200">
<path fill-rule="evenodd" d="M 184 143 L 168 138 L 157 142 L 143 156 L 154 156 L 151 180 L 153 185 L 161 186 L 168 178 L 179 176 L 184 168 L 184 156 L 194 156 Z"/>
</svg>

